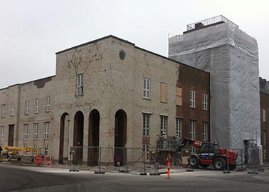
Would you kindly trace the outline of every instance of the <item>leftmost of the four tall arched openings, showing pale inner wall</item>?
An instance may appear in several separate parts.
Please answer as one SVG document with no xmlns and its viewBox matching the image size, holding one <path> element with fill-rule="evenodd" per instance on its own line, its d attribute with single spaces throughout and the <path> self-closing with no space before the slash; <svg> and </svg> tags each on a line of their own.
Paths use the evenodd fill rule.
<svg viewBox="0 0 269 192">
<path fill-rule="evenodd" d="M 65 129 L 69 131 L 69 115 L 68 113 L 63 113 L 62 116 L 60 116 L 60 145 L 59 145 L 59 163 L 63 164 L 64 158 L 68 158 L 68 142 L 66 139 L 69 138 L 68 133 L 66 133 Z M 67 137 L 65 137 L 67 135 Z M 66 146 L 66 148 L 64 147 Z M 64 151 L 67 153 L 65 154 Z"/>
</svg>

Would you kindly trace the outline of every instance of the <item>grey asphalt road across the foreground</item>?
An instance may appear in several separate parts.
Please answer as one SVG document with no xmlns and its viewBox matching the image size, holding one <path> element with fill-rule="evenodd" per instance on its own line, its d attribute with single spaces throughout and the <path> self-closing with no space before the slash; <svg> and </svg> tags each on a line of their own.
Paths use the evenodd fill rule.
<svg viewBox="0 0 269 192">
<path fill-rule="evenodd" d="M 269 191 L 269 170 L 258 174 L 195 170 L 167 175 L 69 172 L 63 168 L 0 163 L 0 191 Z"/>
</svg>

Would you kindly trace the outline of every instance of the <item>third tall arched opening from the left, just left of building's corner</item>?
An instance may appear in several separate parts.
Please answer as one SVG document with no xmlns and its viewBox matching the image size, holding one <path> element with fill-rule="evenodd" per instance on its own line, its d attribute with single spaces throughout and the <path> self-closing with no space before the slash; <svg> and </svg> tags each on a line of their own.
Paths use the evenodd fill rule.
<svg viewBox="0 0 269 192">
<path fill-rule="evenodd" d="M 89 116 L 89 137 L 88 137 L 88 166 L 98 163 L 100 113 L 96 109 L 90 112 Z"/>
</svg>

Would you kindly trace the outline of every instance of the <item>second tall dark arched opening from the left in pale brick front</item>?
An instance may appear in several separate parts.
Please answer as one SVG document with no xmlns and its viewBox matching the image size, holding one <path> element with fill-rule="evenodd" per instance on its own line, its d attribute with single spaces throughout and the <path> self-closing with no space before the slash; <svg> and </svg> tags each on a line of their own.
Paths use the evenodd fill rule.
<svg viewBox="0 0 269 192">
<path fill-rule="evenodd" d="M 74 139 L 73 146 L 75 147 L 75 163 L 83 161 L 83 132 L 84 132 L 84 116 L 81 111 L 75 113 L 74 117 Z"/>
</svg>

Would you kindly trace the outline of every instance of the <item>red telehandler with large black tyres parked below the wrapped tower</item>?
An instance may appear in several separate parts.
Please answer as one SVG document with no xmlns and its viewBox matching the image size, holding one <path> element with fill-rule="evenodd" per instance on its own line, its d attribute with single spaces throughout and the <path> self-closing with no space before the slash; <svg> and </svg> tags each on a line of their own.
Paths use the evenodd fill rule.
<svg viewBox="0 0 269 192">
<path fill-rule="evenodd" d="M 223 170 L 227 168 L 227 163 L 229 170 L 234 170 L 236 168 L 238 152 L 230 151 L 226 148 L 219 148 L 216 143 L 203 143 L 189 138 L 184 138 L 181 146 L 179 146 L 179 150 L 186 146 L 186 144 L 192 144 L 199 148 L 198 153 L 191 153 L 189 159 L 191 168 L 198 168 L 199 166 L 207 168 L 213 165 L 215 170 Z"/>
</svg>

